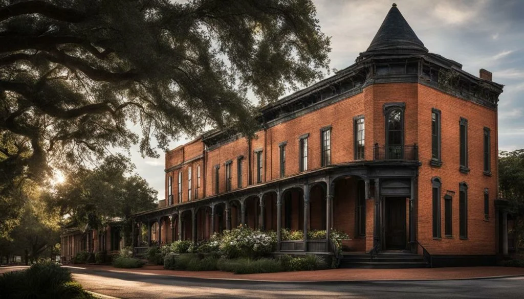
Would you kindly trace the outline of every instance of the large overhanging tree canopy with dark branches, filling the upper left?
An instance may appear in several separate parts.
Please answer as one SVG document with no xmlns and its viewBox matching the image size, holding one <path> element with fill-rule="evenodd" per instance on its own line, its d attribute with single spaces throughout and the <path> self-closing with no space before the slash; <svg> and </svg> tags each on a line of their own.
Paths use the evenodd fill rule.
<svg viewBox="0 0 524 299">
<path fill-rule="evenodd" d="M 329 65 L 309 0 L 45 3 L 1 6 L 1 181 L 113 147 L 158 157 L 209 125 L 251 134 L 248 92 L 275 101 Z"/>
</svg>

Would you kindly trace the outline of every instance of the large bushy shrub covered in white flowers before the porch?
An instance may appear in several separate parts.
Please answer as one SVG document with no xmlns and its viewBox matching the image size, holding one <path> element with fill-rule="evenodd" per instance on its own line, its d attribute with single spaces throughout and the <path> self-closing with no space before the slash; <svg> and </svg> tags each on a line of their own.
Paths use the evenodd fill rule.
<svg viewBox="0 0 524 299">
<path fill-rule="evenodd" d="M 256 258 L 273 251 L 276 238 L 274 238 L 274 234 L 267 234 L 241 225 L 232 230 L 225 230 L 219 242 L 220 251 L 230 259 L 238 257 Z"/>
</svg>

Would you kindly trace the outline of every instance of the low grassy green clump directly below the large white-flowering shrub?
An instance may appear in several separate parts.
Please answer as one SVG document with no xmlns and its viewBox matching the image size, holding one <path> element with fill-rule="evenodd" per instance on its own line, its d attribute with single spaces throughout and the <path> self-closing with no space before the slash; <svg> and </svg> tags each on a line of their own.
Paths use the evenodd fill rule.
<svg viewBox="0 0 524 299">
<path fill-rule="evenodd" d="M 217 268 L 221 271 L 233 272 L 235 274 L 250 273 L 272 273 L 281 272 L 282 266 L 276 259 L 220 259 Z"/>
</svg>

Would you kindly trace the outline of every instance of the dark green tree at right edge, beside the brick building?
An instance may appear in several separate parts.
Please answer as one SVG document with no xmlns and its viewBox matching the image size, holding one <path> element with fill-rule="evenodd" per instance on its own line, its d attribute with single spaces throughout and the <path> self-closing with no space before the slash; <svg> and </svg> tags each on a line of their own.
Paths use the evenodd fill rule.
<svg viewBox="0 0 524 299">
<path fill-rule="evenodd" d="M 516 237 L 515 247 L 520 250 L 524 248 L 524 149 L 501 151 L 498 167 L 500 192 L 508 201 L 514 221 L 512 233 Z M 489 192 L 492 193 L 492 190 Z"/>
</svg>

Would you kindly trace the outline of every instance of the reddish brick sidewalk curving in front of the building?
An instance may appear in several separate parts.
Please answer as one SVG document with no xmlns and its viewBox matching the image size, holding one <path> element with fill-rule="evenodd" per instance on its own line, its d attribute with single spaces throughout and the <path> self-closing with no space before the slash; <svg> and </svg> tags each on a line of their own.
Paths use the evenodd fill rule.
<svg viewBox="0 0 524 299">
<path fill-rule="evenodd" d="M 332 269 L 319 271 L 233 274 L 222 271 L 174 271 L 161 265 L 146 265 L 138 269 L 121 269 L 109 265 L 78 265 L 81 269 L 169 275 L 184 278 L 253 280 L 253 281 L 378 281 L 378 280 L 455 280 L 524 275 L 524 268 L 456 267 L 427 269 Z"/>
</svg>

